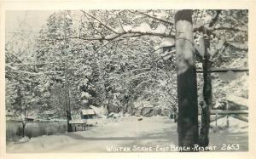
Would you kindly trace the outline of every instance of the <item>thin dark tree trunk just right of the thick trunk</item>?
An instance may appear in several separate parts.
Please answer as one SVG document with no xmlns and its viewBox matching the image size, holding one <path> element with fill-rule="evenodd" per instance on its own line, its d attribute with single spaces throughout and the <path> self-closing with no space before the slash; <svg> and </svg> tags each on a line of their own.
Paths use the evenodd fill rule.
<svg viewBox="0 0 256 159">
<path fill-rule="evenodd" d="M 200 145 L 207 147 L 209 145 L 209 128 L 210 128 L 210 110 L 212 109 L 212 76 L 210 72 L 212 70 L 212 62 L 209 60 L 210 55 L 207 53 L 209 47 L 208 37 L 204 37 L 204 60 L 203 67 L 203 99 L 204 103 L 201 105 L 201 130 L 200 130 Z"/>
</svg>

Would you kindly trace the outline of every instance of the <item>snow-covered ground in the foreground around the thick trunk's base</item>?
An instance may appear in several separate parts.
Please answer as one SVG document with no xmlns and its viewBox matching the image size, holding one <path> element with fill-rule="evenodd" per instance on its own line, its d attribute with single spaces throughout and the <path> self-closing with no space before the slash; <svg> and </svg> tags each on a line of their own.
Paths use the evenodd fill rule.
<svg viewBox="0 0 256 159">
<path fill-rule="evenodd" d="M 170 151 L 170 145 L 177 145 L 177 123 L 167 116 L 120 117 L 118 119 L 102 119 L 96 127 L 86 131 L 63 133 L 61 135 L 41 136 L 28 142 L 10 143 L 7 152 L 108 152 L 108 151 Z M 224 120 L 224 119 L 220 119 Z M 239 144 L 239 150 L 247 150 L 246 122 L 241 123 L 242 131 L 235 132 L 232 128 L 211 130 L 210 145 Z M 224 122 L 219 122 L 224 124 Z M 234 131 L 234 132 L 233 132 Z M 159 149 L 157 149 L 157 147 Z"/>
</svg>

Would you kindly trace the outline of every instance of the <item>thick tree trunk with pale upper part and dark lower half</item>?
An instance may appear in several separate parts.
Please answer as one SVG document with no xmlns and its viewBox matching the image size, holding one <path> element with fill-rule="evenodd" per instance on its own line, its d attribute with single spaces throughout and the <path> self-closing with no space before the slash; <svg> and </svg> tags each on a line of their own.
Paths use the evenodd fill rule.
<svg viewBox="0 0 256 159">
<path fill-rule="evenodd" d="M 175 14 L 177 49 L 177 102 L 178 145 L 189 147 L 180 151 L 193 151 L 198 144 L 198 103 L 195 72 L 192 10 L 179 10 Z"/>
</svg>

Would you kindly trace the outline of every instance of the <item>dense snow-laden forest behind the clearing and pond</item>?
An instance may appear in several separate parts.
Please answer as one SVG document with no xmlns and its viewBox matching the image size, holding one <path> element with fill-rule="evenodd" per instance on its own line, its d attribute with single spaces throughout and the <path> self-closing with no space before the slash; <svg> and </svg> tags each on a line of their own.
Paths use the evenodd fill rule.
<svg viewBox="0 0 256 159">
<path fill-rule="evenodd" d="M 106 115 L 135 115 L 137 105 L 153 106 L 160 114 L 177 109 L 178 94 L 193 88 L 177 88 L 181 60 L 189 57 L 178 55 L 177 47 L 183 45 L 177 43 L 177 32 L 188 28 L 178 26 L 176 14 L 177 10 L 60 10 L 50 14 L 38 32 L 21 21 L 5 45 L 9 119 L 25 123 L 48 114 L 68 119 L 90 105 Z M 230 94 L 247 99 L 248 73 L 206 72 L 247 68 L 248 11 L 195 9 L 191 18 L 188 49 L 195 49 L 191 62 L 197 73 L 191 94 L 196 107 L 212 109 Z M 238 77 L 240 81 L 232 82 Z"/>
</svg>

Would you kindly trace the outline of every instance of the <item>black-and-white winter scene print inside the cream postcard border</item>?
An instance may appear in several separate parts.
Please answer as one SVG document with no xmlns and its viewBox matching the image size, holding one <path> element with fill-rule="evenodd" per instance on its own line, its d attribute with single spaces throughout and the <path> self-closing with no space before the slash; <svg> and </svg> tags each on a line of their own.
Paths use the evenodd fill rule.
<svg viewBox="0 0 256 159">
<path fill-rule="evenodd" d="M 247 152 L 248 14 L 6 10 L 6 153 Z"/>
</svg>

